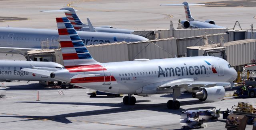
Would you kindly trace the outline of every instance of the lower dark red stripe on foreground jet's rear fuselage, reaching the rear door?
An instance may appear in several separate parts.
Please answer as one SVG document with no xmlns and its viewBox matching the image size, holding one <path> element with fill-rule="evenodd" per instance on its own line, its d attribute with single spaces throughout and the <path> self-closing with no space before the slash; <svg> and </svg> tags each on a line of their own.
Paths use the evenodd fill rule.
<svg viewBox="0 0 256 130">
<path fill-rule="evenodd" d="M 70 81 L 70 83 L 91 83 L 91 82 L 110 82 L 110 81 L 116 81 L 114 76 L 74 78 Z"/>
</svg>

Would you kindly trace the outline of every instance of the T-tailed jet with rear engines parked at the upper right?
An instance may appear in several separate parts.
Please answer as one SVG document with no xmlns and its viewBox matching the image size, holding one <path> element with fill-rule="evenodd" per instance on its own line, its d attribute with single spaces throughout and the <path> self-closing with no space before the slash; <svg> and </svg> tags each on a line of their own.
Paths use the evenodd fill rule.
<svg viewBox="0 0 256 130">
<path fill-rule="evenodd" d="M 188 2 L 183 2 L 182 4 L 160 4 L 160 6 L 184 6 L 186 20 L 182 20 L 180 23 L 183 28 L 224 28 L 222 26 L 216 25 L 213 20 L 206 20 L 204 22 L 194 20 L 191 16 L 189 6 L 204 5 L 204 4 L 188 4 Z"/>
</svg>

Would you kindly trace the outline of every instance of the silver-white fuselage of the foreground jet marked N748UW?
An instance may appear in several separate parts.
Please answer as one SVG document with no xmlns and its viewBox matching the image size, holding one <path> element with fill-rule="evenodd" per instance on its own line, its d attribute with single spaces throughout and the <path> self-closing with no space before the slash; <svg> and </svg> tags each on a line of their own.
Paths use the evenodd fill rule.
<svg viewBox="0 0 256 130">
<path fill-rule="evenodd" d="M 169 93 L 169 90 L 158 90 L 158 86 L 181 78 L 232 82 L 237 76 L 226 60 L 212 56 L 102 63 L 58 70 L 54 74 L 56 79 L 76 86 L 118 94 L 146 94 L 141 92 L 142 87 L 147 89 L 147 94 Z M 70 79 L 83 74 L 94 76 Z"/>
</svg>

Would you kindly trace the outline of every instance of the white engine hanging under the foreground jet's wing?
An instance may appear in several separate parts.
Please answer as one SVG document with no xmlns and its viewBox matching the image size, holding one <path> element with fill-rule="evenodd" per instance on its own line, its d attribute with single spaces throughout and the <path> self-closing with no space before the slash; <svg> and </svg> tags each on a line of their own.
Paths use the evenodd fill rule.
<svg viewBox="0 0 256 130">
<path fill-rule="evenodd" d="M 202 88 L 202 91 L 193 93 L 193 98 L 198 98 L 204 102 L 218 102 L 225 96 L 225 89 L 223 86 L 215 86 L 211 88 Z"/>
</svg>

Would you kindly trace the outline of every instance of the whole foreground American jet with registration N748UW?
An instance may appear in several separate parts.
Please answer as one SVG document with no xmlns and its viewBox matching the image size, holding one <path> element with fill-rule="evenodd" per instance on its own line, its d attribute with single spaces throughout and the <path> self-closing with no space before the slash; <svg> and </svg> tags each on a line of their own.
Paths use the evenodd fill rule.
<svg viewBox="0 0 256 130">
<path fill-rule="evenodd" d="M 41 70 L 24 68 L 26 72 L 101 92 L 128 94 L 125 105 L 135 105 L 133 94 L 165 94 L 173 92 L 168 108 L 180 108 L 176 100 L 181 88 L 193 92 L 192 97 L 204 102 L 224 98 L 223 86 L 233 86 L 237 73 L 230 64 L 214 56 L 166 59 L 136 59 L 134 61 L 100 63 L 94 60 L 82 43 L 68 18 L 56 18 L 65 69 Z M 76 39 L 71 39 L 76 36 Z"/>
</svg>

